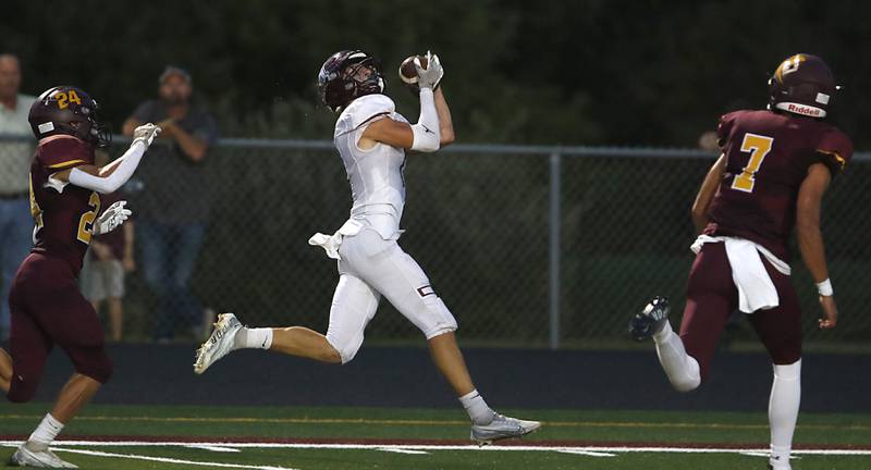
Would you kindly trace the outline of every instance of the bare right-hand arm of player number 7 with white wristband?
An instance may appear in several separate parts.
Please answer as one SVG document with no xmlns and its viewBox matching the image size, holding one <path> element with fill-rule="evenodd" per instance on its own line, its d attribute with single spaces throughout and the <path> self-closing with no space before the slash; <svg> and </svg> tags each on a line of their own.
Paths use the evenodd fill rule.
<svg viewBox="0 0 871 470">
<path fill-rule="evenodd" d="M 811 165 L 798 190 L 796 208 L 798 246 L 805 265 L 808 267 L 820 292 L 820 304 L 823 308 L 823 318 L 820 320 L 822 329 L 834 327 L 837 323 L 837 306 L 832 290 L 832 282 L 829 280 L 825 247 L 820 231 L 820 208 L 831 181 L 832 174 L 823 163 Z"/>
</svg>

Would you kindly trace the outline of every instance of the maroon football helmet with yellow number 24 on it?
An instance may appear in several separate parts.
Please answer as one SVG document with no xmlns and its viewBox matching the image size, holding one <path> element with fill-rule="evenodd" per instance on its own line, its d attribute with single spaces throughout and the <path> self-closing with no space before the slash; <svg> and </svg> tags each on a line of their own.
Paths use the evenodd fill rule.
<svg viewBox="0 0 871 470">
<path fill-rule="evenodd" d="M 37 139 L 64 134 L 106 147 L 112 134 L 97 121 L 97 101 L 82 88 L 58 86 L 39 95 L 27 120 Z"/>
</svg>

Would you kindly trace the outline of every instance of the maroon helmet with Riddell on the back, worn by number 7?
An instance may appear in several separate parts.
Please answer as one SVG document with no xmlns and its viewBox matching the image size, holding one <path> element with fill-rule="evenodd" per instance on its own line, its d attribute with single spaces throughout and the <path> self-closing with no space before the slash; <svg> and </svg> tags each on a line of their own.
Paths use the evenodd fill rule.
<svg viewBox="0 0 871 470">
<path fill-rule="evenodd" d="M 829 65 L 817 55 L 799 53 L 781 63 L 769 79 L 769 109 L 825 118 L 841 89 Z"/>
</svg>

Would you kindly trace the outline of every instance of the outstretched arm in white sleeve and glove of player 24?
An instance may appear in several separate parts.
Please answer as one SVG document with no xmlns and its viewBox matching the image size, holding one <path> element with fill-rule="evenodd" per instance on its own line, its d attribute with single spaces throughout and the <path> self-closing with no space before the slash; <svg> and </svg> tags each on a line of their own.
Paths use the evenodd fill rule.
<svg viewBox="0 0 871 470">
<path fill-rule="evenodd" d="M 75 186 L 95 190 L 100 194 L 109 194 L 118 190 L 130 180 L 133 172 L 139 165 L 148 146 L 155 140 L 155 136 L 160 133 L 160 127 L 154 124 L 145 124 L 136 128 L 133 134 L 133 143 L 121 158 L 106 166 L 81 165 L 70 170 L 64 170 L 52 175 L 52 178 L 63 183 L 71 183 Z"/>
</svg>

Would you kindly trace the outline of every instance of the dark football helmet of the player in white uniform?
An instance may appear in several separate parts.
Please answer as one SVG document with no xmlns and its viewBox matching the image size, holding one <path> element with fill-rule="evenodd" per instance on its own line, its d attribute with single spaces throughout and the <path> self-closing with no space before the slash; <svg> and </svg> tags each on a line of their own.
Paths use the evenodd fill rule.
<svg viewBox="0 0 871 470">
<path fill-rule="evenodd" d="M 360 50 L 343 50 L 330 55 L 318 73 L 320 98 L 333 112 L 364 95 L 384 91 L 381 65 Z"/>
</svg>

